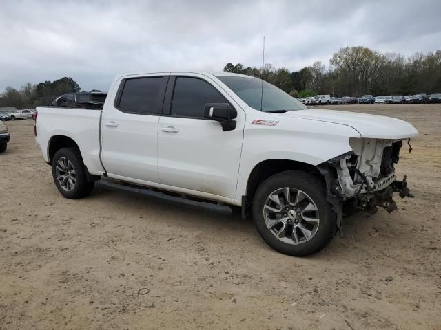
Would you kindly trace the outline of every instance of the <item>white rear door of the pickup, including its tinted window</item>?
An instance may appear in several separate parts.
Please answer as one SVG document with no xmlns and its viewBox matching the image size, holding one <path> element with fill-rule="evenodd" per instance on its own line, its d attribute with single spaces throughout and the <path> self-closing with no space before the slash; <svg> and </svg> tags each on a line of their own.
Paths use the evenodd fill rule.
<svg viewBox="0 0 441 330">
<path fill-rule="evenodd" d="M 122 79 L 113 104 L 105 104 L 101 159 L 109 177 L 159 182 L 158 121 L 168 75 Z M 141 183 L 141 182 L 139 182 Z"/>
</svg>

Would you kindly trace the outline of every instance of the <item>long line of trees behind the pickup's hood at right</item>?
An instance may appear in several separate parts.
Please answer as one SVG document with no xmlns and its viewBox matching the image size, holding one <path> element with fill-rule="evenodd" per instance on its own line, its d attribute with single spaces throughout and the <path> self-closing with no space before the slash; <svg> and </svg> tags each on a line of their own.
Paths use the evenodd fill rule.
<svg viewBox="0 0 441 330">
<path fill-rule="evenodd" d="M 291 72 L 271 64 L 245 67 L 227 63 L 224 72 L 263 76 L 291 96 L 411 95 L 441 92 L 441 50 L 404 57 L 367 47 L 345 47 L 332 54 L 329 66 L 317 61 Z"/>
</svg>

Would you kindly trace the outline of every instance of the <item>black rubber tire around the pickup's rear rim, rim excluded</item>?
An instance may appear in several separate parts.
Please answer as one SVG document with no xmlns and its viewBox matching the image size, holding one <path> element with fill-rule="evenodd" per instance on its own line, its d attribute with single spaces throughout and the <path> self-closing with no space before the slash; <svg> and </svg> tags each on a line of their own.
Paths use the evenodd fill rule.
<svg viewBox="0 0 441 330">
<path fill-rule="evenodd" d="M 70 191 L 63 189 L 61 182 L 57 180 L 57 164 L 61 158 L 67 159 L 75 170 L 76 182 L 74 184 L 74 188 Z M 68 199 L 79 199 L 81 197 L 85 197 L 86 195 L 89 195 L 94 188 L 94 181 L 88 181 L 85 175 L 83 158 L 81 158 L 81 153 L 79 152 L 78 148 L 75 147 L 63 148 L 55 153 L 52 159 L 52 177 L 54 178 L 55 186 L 57 186 L 57 189 L 61 195 Z"/>
</svg>

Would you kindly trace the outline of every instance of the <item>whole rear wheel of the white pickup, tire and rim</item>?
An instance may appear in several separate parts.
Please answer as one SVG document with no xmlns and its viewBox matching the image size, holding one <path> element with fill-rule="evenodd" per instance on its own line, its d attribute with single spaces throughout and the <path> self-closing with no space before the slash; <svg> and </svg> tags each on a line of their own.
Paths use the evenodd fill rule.
<svg viewBox="0 0 441 330">
<path fill-rule="evenodd" d="M 94 188 L 85 175 L 85 166 L 78 148 L 63 148 L 52 159 L 52 177 L 61 195 L 79 199 Z"/>
</svg>

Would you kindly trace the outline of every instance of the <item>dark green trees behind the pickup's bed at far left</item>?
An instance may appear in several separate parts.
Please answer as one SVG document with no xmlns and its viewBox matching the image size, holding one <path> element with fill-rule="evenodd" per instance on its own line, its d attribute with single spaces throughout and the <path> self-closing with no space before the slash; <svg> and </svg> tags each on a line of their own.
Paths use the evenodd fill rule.
<svg viewBox="0 0 441 330">
<path fill-rule="evenodd" d="M 17 90 L 6 87 L 0 94 L 0 107 L 16 107 L 17 109 L 34 109 L 40 105 L 50 105 L 62 94 L 76 93 L 81 90 L 72 78 L 64 77 L 54 81 L 45 81 L 37 85 L 27 83 Z"/>
</svg>

